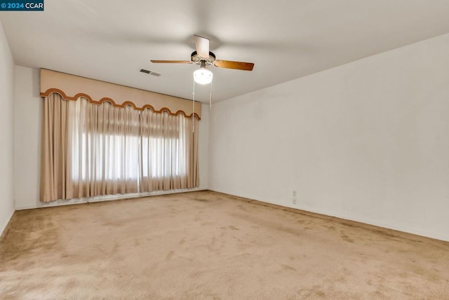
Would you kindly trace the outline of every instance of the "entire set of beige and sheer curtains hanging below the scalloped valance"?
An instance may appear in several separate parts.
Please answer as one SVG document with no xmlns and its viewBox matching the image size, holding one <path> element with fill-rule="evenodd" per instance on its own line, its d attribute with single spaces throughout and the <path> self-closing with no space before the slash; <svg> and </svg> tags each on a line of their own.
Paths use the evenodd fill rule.
<svg viewBox="0 0 449 300">
<path fill-rule="evenodd" d="M 57 93 L 43 103 L 41 201 L 198 186 L 196 118 Z"/>
</svg>

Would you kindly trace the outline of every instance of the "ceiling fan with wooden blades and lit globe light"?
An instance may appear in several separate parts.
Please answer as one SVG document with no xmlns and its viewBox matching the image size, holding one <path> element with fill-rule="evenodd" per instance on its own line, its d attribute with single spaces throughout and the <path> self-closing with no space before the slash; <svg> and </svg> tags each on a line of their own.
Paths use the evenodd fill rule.
<svg viewBox="0 0 449 300">
<path fill-rule="evenodd" d="M 215 54 L 209 51 L 209 39 L 194 35 L 195 48 L 191 55 L 191 60 L 151 60 L 154 63 L 168 64 L 199 64 L 200 68 L 194 71 L 196 83 L 208 84 L 212 82 L 213 74 L 208 70 L 210 65 L 219 68 L 238 69 L 243 71 L 253 71 L 252 62 L 233 62 L 231 60 L 217 60 Z"/>
</svg>

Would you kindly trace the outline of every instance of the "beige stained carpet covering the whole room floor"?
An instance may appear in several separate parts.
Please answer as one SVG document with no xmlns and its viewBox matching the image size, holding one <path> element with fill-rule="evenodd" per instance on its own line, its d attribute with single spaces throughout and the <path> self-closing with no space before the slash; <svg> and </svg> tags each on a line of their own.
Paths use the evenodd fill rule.
<svg viewBox="0 0 449 300">
<path fill-rule="evenodd" d="M 210 191 L 22 210 L 0 299 L 449 299 L 449 243 Z"/>
</svg>

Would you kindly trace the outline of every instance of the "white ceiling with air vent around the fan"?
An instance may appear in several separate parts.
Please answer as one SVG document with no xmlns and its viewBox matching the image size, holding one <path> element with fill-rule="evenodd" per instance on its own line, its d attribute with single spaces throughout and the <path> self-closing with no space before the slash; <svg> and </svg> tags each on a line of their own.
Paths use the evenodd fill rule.
<svg viewBox="0 0 449 300">
<path fill-rule="evenodd" d="M 255 63 L 212 69 L 219 101 L 445 34 L 448 15 L 448 0 L 45 0 L 0 20 L 15 64 L 187 99 L 198 66 L 149 60 L 189 60 L 205 36 L 217 59 Z"/>
</svg>

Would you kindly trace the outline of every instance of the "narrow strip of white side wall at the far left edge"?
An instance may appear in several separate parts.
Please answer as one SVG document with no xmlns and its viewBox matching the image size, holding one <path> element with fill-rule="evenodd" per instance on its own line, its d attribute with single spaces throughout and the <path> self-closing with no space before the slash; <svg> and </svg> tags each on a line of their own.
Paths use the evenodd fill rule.
<svg viewBox="0 0 449 300">
<path fill-rule="evenodd" d="M 0 22 L 0 236 L 14 213 L 14 61 Z"/>
</svg>

